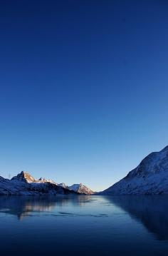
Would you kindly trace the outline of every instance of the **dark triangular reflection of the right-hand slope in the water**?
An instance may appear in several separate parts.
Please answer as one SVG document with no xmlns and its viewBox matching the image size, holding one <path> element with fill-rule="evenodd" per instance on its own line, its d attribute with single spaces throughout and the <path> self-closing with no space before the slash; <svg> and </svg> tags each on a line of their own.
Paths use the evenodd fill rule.
<svg viewBox="0 0 168 256">
<path fill-rule="evenodd" d="M 168 195 L 120 195 L 105 198 L 140 221 L 158 240 L 168 240 Z"/>
</svg>

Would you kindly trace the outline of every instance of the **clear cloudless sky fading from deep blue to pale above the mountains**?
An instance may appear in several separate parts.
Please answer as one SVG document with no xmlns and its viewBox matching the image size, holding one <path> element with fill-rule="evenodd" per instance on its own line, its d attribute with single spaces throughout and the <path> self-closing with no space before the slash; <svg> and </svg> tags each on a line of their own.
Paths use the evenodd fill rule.
<svg viewBox="0 0 168 256">
<path fill-rule="evenodd" d="M 1 1 L 0 175 L 103 190 L 168 144 L 167 1 Z"/>
</svg>

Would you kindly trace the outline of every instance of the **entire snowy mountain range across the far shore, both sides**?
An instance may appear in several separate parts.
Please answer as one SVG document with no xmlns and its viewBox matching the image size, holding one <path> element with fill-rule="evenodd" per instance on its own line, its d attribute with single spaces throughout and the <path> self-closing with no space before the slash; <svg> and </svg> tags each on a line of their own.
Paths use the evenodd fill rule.
<svg viewBox="0 0 168 256">
<path fill-rule="evenodd" d="M 168 146 L 153 152 L 142 160 L 137 168 L 110 188 L 94 193 L 82 183 L 71 186 L 54 180 L 39 178 L 21 172 L 9 179 L 0 176 L 0 195 L 155 195 L 168 193 Z"/>
</svg>

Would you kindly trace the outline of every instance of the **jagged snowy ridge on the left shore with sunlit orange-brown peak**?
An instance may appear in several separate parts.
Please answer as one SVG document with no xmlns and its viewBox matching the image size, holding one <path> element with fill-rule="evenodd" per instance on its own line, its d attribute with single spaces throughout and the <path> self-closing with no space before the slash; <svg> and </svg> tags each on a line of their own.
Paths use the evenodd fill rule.
<svg viewBox="0 0 168 256">
<path fill-rule="evenodd" d="M 36 180 L 29 173 L 21 172 L 11 180 L 0 177 L 0 195 L 66 195 L 78 194 L 46 179 Z"/>
</svg>

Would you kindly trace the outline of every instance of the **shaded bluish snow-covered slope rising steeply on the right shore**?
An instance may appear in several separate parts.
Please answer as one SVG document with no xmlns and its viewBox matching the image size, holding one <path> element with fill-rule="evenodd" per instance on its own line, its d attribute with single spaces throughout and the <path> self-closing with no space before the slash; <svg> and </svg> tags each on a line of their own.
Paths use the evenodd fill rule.
<svg viewBox="0 0 168 256">
<path fill-rule="evenodd" d="M 107 188 L 100 195 L 167 194 L 168 146 L 153 152 L 131 170 L 125 178 Z"/>
</svg>

